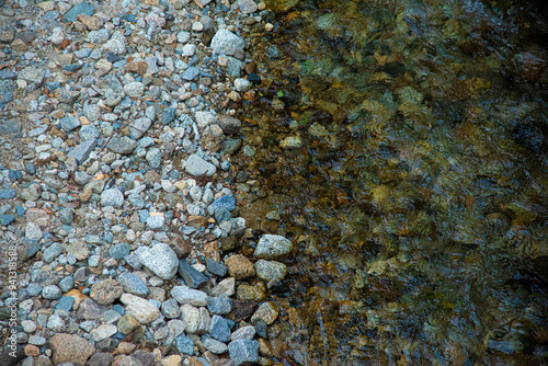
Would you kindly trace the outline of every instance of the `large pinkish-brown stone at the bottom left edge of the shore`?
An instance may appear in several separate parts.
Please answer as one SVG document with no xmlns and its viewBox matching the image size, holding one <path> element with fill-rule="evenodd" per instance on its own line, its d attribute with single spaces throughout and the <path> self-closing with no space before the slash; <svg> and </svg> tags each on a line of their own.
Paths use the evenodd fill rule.
<svg viewBox="0 0 548 366">
<path fill-rule="evenodd" d="M 53 351 L 54 365 L 72 363 L 84 366 L 85 362 L 95 353 L 95 347 L 84 338 L 77 334 L 57 333 L 49 339 Z"/>
</svg>

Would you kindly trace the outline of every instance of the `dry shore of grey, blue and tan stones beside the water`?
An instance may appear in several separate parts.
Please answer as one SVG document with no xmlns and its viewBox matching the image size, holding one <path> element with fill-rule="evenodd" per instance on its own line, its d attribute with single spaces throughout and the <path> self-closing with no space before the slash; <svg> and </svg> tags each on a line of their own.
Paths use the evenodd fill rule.
<svg viewBox="0 0 548 366">
<path fill-rule="evenodd" d="M 0 365 L 272 364 L 293 245 L 240 253 L 230 182 L 273 13 L 75 2 L 0 0 Z"/>
</svg>

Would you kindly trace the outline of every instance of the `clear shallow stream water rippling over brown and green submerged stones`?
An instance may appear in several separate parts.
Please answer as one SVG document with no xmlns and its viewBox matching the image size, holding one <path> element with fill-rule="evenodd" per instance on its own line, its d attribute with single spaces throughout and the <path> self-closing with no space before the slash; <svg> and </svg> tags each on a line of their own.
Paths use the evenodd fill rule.
<svg viewBox="0 0 548 366">
<path fill-rule="evenodd" d="M 546 7 L 271 7 L 239 198 L 298 243 L 276 359 L 546 362 Z"/>
</svg>

